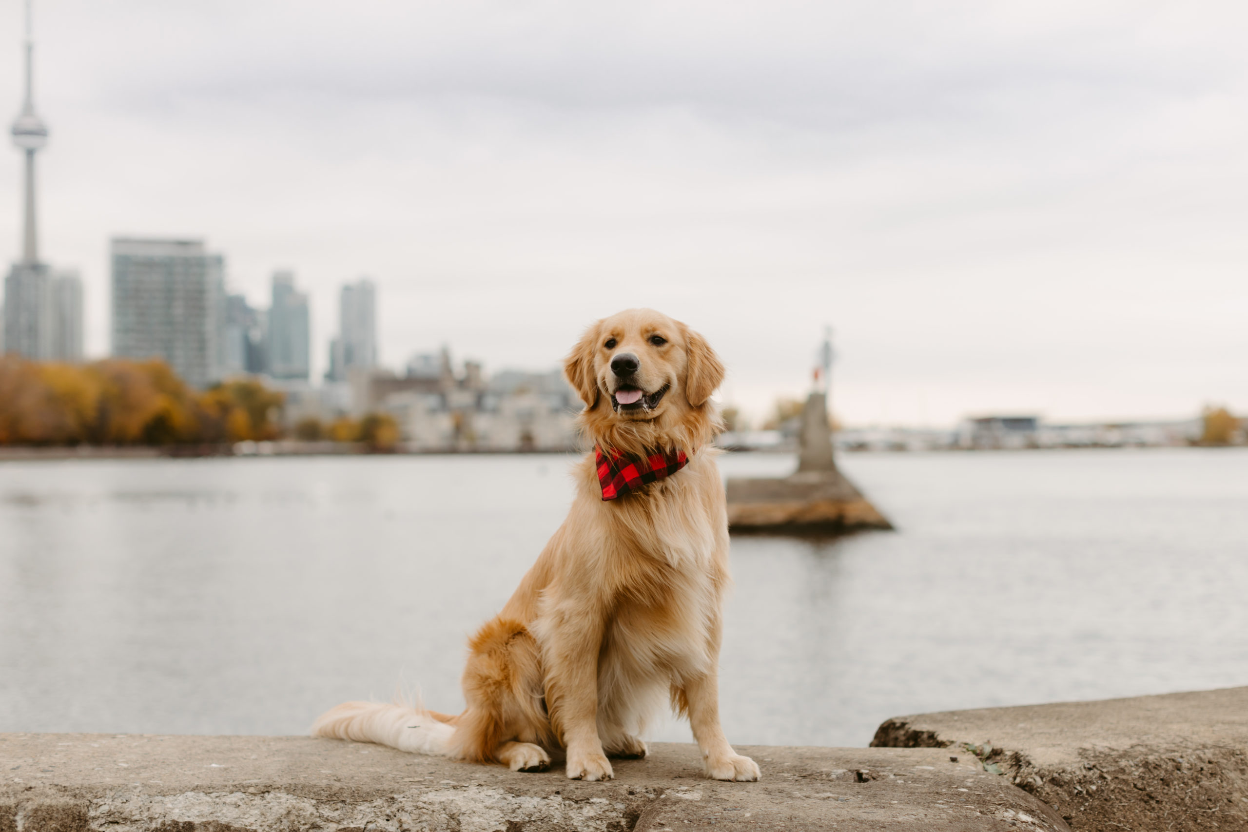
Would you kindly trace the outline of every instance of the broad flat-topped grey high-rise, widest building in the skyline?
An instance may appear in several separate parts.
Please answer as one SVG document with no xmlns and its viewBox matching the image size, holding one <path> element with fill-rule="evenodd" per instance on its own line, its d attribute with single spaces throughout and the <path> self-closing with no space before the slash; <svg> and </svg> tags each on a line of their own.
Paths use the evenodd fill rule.
<svg viewBox="0 0 1248 832">
<path fill-rule="evenodd" d="M 221 378 L 225 261 L 202 239 L 112 239 L 112 354 L 163 358 L 192 387 Z"/>
</svg>

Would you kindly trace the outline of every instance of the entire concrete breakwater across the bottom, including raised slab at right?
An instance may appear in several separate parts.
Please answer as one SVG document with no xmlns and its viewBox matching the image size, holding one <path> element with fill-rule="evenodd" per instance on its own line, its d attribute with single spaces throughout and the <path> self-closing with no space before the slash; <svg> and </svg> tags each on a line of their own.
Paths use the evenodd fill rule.
<svg viewBox="0 0 1248 832">
<path fill-rule="evenodd" d="M 0 735 L 0 832 L 1246 830 L 1248 689 L 897 717 L 874 747 L 655 743 L 583 783 L 311 737 Z"/>
</svg>

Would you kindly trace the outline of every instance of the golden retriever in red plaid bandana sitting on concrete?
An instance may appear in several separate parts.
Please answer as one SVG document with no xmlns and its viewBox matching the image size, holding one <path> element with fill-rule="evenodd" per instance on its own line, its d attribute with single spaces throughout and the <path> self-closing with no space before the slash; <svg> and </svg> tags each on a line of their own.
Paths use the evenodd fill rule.
<svg viewBox="0 0 1248 832">
<path fill-rule="evenodd" d="M 710 395 L 724 367 L 685 324 L 629 309 L 589 327 L 564 373 L 594 450 L 568 519 L 470 641 L 467 709 L 346 702 L 312 732 L 513 771 L 564 748 L 568 777 L 597 781 L 608 757 L 646 755 L 639 735 L 670 702 L 708 777 L 755 781 L 719 723 L 728 516 Z"/>
</svg>

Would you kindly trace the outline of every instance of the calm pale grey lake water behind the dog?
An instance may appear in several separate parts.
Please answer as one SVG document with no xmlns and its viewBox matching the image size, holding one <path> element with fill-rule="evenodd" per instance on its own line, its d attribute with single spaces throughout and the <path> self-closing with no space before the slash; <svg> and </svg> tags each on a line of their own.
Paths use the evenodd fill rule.
<svg viewBox="0 0 1248 832">
<path fill-rule="evenodd" d="M 417 686 L 454 711 L 466 636 L 563 519 L 568 465 L 0 463 L 0 731 L 302 733 Z M 734 538 L 734 742 L 862 746 L 901 713 L 1248 685 L 1244 450 L 842 467 L 899 530 Z"/>
</svg>

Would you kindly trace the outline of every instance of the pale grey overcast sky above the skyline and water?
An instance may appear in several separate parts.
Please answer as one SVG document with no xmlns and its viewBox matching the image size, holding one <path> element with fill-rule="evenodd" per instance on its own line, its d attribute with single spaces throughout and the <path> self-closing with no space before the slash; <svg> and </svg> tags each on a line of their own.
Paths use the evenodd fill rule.
<svg viewBox="0 0 1248 832">
<path fill-rule="evenodd" d="M 1248 6 L 36 0 L 41 244 L 109 348 L 114 235 L 267 304 L 379 287 L 381 354 L 545 368 L 651 306 L 723 398 L 850 423 L 1248 410 Z M 21 4 L 0 11 L 0 115 Z M 0 165 L 19 253 L 20 158 Z"/>
</svg>

